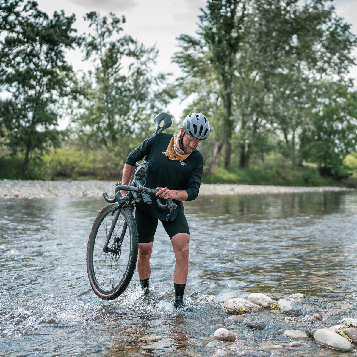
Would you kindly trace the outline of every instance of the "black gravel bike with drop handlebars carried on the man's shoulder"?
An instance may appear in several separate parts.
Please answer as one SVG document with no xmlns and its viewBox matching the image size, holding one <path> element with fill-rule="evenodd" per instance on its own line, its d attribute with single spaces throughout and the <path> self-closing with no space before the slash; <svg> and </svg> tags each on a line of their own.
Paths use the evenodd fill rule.
<svg viewBox="0 0 357 357">
<path fill-rule="evenodd" d="M 166 127 L 171 126 L 171 117 L 166 113 L 160 113 L 154 121 L 156 135 L 160 135 Z M 162 122 L 164 124 L 160 126 Z M 135 203 L 143 200 L 151 204 L 149 194 L 159 191 L 145 187 L 144 176 L 149 167 L 145 159 L 137 165 L 129 186 L 118 182 L 114 198 L 109 198 L 106 192 L 103 193 L 104 199 L 109 204 L 98 213 L 90 231 L 87 246 L 87 273 L 92 289 L 103 300 L 117 298 L 129 285 L 135 271 L 139 248 L 133 215 Z M 120 193 L 122 190 L 127 191 L 124 197 Z M 169 209 L 166 220 L 176 209 L 176 204 L 171 198 L 166 200 L 165 204 L 157 198 L 156 203 L 162 209 Z"/>
</svg>

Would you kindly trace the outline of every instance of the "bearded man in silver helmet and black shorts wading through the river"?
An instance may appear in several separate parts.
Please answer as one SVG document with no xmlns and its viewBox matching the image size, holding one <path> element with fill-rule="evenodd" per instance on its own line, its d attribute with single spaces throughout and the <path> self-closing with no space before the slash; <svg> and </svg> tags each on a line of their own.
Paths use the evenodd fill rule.
<svg viewBox="0 0 357 357">
<path fill-rule="evenodd" d="M 171 198 L 177 204 L 174 214 L 166 221 L 164 213 L 156 204 L 137 202 L 135 219 L 139 233 L 139 254 L 137 271 L 144 294 L 149 293 L 151 273 L 150 257 L 154 236 L 161 221 L 171 239 L 176 264 L 174 272 L 175 303 L 180 310 L 189 310 L 183 304 L 188 275 L 188 242 L 190 231 L 183 212 L 182 201 L 194 200 L 198 196 L 203 172 L 203 158 L 196 150 L 201 140 L 210 134 L 210 124 L 200 113 L 186 116 L 181 131 L 176 135 L 155 134 L 149 136 L 140 146 L 131 151 L 123 170 L 122 184 L 129 185 L 137 161 L 147 156 L 149 170 L 145 176 L 147 187 L 156 187 L 156 193 L 165 200 Z M 168 188 L 169 187 L 169 188 Z M 121 191 L 122 197 L 126 191 Z"/>
</svg>

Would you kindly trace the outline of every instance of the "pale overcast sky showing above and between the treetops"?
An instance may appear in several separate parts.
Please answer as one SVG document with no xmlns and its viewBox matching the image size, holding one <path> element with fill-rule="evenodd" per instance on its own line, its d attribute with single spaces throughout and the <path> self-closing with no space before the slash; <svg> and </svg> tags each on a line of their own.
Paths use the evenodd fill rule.
<svg viewBox="0 0 357 357">
<path fill-rule="evenodd" d="M 124 15 L 126 23 L 123 33 L 127 33 L 142 42 L 146 47 L 153 45 L 159 50 L 157 59 L 161 72 L 179 74 L 176 64 L 171 64 L 171 57 L 178 50 L 177 40 L 181 34 L 195 35 L 198 30 L 200 7 L 206 7 L 206 0 L 36 0 L 39 8 L 52 16 L 55 10 L 65 10 L 66 15 L 76 15 L 75 27 L 78 34 L 87 31 L 83 16 L 89 11 L 99 11 L 101 16 L 114 12 L 118 17 Z M 357 34 L 357 1 L 336 0 L 333 2 L 337 15 L 352 25 L 352 32 Z M 354 51 L 357 57 L 357 50 Z M 68 61 L 75 70 L 84 68 L 81 53 L 72 52 Z M 357 67 L 351 69 L 351 77 L 357 78 Z M 170 108 L 181 115 L 178 102 Z"/>
</svg>

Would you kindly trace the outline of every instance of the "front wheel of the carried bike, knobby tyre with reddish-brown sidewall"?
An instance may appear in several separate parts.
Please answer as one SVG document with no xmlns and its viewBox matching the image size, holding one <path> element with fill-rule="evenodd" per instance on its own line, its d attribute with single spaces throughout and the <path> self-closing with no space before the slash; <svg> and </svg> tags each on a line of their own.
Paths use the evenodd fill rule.
<svg viewBox="0 0 357 357">
<path fill-rule="evenodd" d="M 129 208 L 116 210 L 106 205 L 95 219 L 88 240 L 87 272 L 94 292 L 104 300 L 120 296 L 135 271 L 138 235 L 134 216 Z M 109 244 L 103 251 L 112 229 Z"/>
</svg>

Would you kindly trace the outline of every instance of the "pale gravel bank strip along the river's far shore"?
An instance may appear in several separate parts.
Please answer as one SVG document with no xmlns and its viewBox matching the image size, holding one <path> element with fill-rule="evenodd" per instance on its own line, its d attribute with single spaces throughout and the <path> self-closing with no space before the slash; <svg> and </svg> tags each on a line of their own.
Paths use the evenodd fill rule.
<svg viewBox="0 0 357 357">
<path fill-rule="evenodd" d="M 38 198 L 38 197 L 102 197 L 107 192 L 114 197 L 114 181 L 0 181 L 0 198 Z M 264 185 L 215 185 L 202 184 L 200 195 L 256 195 L 261 193 L 294 193 L 351 191 L 340 187 L 296 187 Z"/>
</svg>

